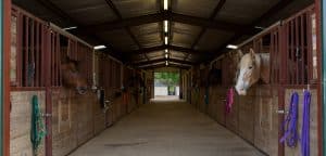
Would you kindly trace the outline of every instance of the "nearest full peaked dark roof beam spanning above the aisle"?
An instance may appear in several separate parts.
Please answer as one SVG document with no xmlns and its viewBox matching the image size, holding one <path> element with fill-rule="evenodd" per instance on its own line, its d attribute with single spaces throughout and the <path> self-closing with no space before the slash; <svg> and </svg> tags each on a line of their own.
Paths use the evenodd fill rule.
<svg viewBox="0 0 326 156">
<path fill-rule="evenodd" d="M 117 21 L 106 22 L 98 25 L 85 26 L 85 27 L 80 27 L 79 31 L 85 31 L 85 30 L 86 31 L 106 31 L 106 30 L 109 31 L 112 29 L 118 29 L 118 28 L 130 27 L 130 26 L 139 26 L 148 23 L 162 22 L 164 20 L 196 25 L 196 26 L 204 26 L 208 28 L 222 29 L 227 31 L 236 31 L 236 30 L 242 30 L 244 32 L 251 31 L 251 28 L 246 25 L 177 14 L 171 11 L 164 11 L 156 14 L 149 14 L 149 15 L 142 15 L 137 17 L 117 20 Z"/>
</svg>

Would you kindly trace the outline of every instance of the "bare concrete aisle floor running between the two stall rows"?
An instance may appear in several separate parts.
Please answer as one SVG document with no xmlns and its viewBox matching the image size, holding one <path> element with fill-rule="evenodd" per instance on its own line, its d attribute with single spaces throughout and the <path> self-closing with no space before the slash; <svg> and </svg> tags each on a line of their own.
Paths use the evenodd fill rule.
<svg viewBox="0 0 326 156">
<path fill-rule="evenodd" d="M 185 102 L 142 105 L 71 156 L 262 156 Z"/>
</svg>

